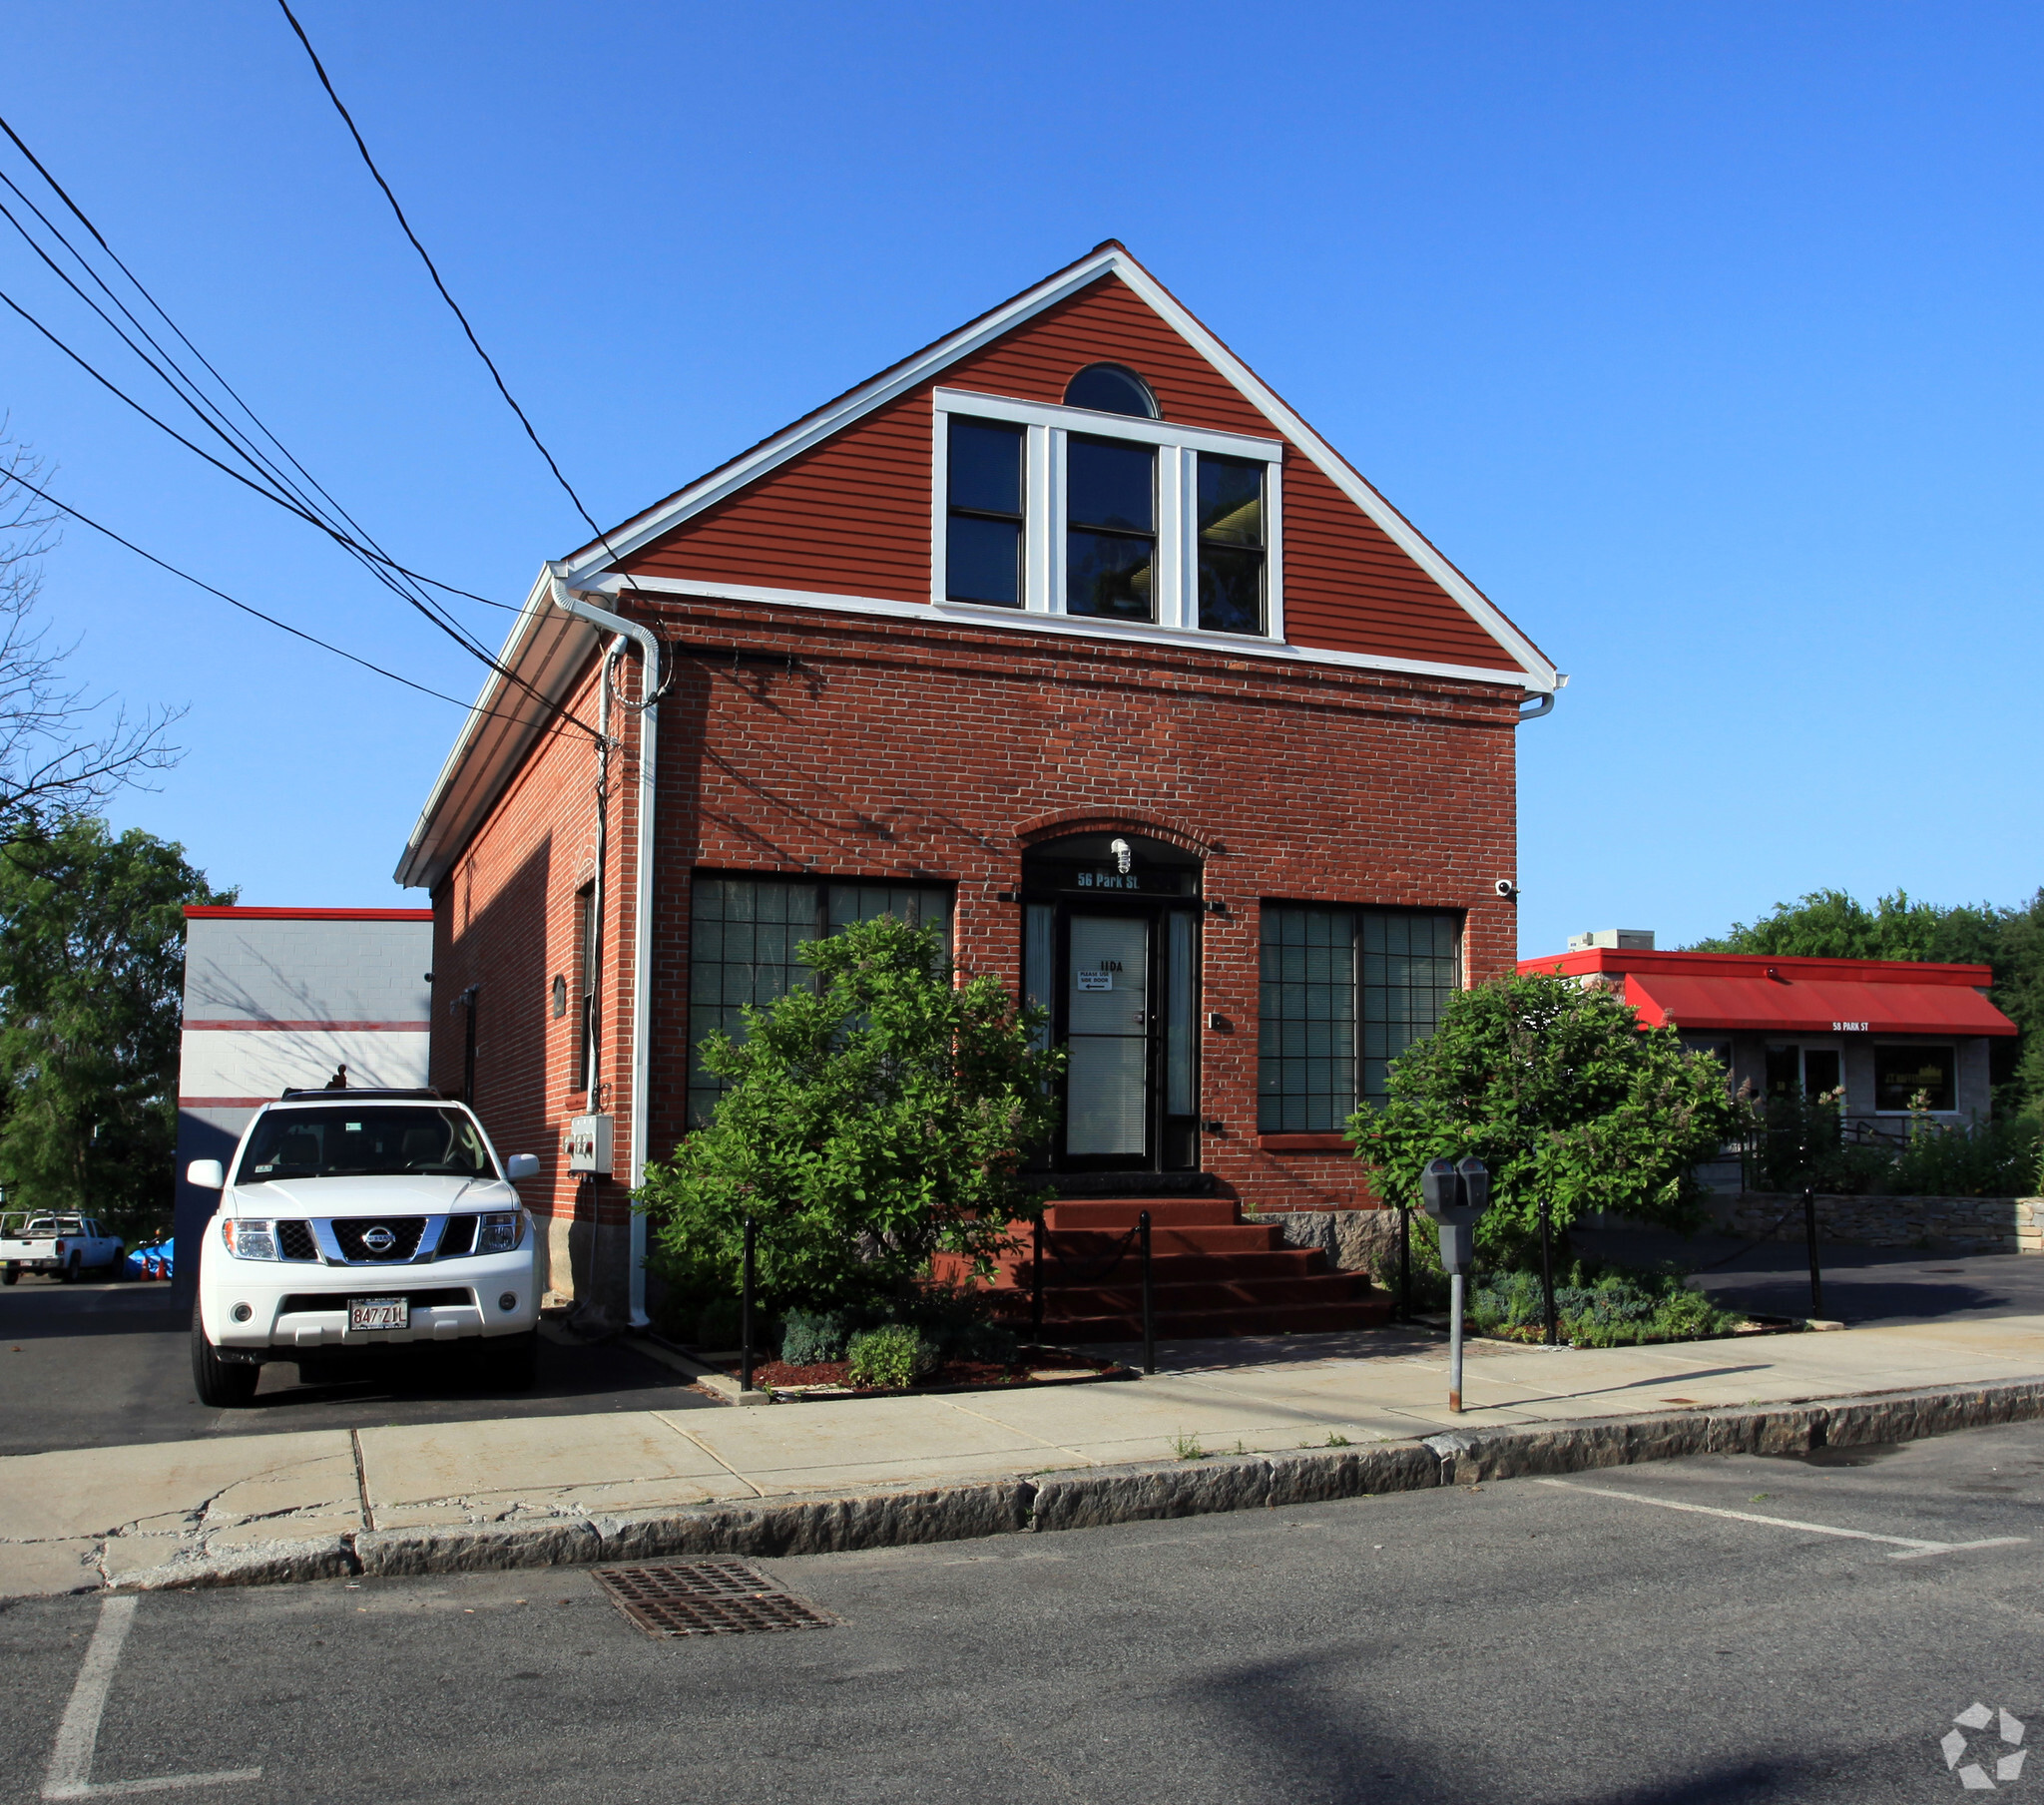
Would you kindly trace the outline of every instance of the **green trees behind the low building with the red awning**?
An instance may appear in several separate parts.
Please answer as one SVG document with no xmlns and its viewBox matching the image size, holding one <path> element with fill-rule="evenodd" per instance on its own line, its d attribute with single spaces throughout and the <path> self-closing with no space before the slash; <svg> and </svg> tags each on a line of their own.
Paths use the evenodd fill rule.
<svg viewBox="0 0 2044 1805">
<path fill-rule="evenodd" d="M 1942 908 L 1901 889 L 1866 908 L 1842 889 L 1813 889 L 1692 951 L 1987 965 L 1995 973 L 1989 998 L 2019 1030 L 2013 1043 L 1991 1047 L 1995 1114 L 2044 1114 L 2044 889 L 2017 908 Z"/>
</svg>

